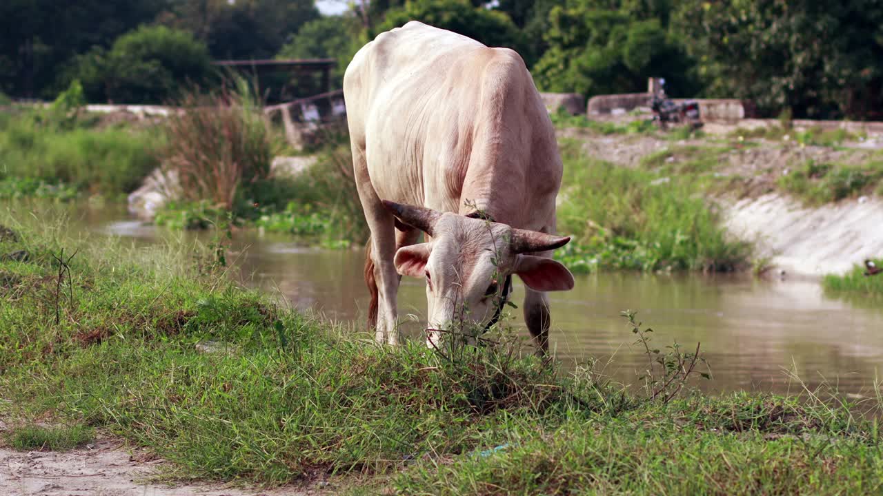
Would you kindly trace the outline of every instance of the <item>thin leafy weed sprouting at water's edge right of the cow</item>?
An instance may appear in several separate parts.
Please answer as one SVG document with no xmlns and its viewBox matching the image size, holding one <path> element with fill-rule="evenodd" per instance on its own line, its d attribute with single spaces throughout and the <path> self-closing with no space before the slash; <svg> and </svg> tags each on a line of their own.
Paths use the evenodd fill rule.
<svg viewBox="0 0 883 496">
<path fill-rule="evenodd" d="M 691 374 L 696 369 L 696 365 L 701 363 L 706 365 L 705 357 L 699 354 L 699 345 L 696 343 L 696 350 L 691 352 L 683 352 L 681 345 L 676 341 L 674 344 L 668 345 L 668 351 L 663 352 L 661 349 L 650 347 L 652 338 L 650 333 L 653 329 L 647 327 L 641 328 L 641 322 L 635 320 L 638 312 L 626 310 L 620 313 L 625 319 L 629 320 L 632 334 L 638 336 L 635 344 L 641 344 L 645 349 L 647 356 L 647 369 L 645 374 L 640 376 L 640 380 L 644 384 L 644 389 L 651 400 L 660 400 L 668 403 L 681 391 L 683 385 L 690 379 Z M 704 379 L 711 379 L 711 371 L 699 372 Z"/>
</svg>

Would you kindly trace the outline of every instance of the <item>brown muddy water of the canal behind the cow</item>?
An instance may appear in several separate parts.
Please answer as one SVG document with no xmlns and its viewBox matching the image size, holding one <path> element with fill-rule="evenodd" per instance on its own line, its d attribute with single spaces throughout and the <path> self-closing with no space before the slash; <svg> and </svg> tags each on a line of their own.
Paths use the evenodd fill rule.
<svg viewBox="0 0 883 496">
<path fill-rule="evenodd" d="M 162 229 L 125 219 L 104 207 L 78 209 L 74 229 L 150 244 L 169 236 Z M 177 235 L 176 235 L 177 236 Z M 291 237 L 239 232 L 228 259 L 247 285 L 362 328 L 367 291 L 362 281 L 364 252 L 305 247 Z M 515 281 L 520 305 L 524 287 Z M 713 380 L 699 387 L 714 392 L 749 389 L 795 392 L 787 371 L 809 387 L 822 382 L 849 395 L 873 395 L 883 359 L 883 301 L 826 296 L 818 282 L 761 281 L 747 275 L 592 274 L 577 276 L 575 289 L 550 293 L 551 346 L 566 366 L 595 357 L 605 372 L 635 382 L 645 364 L 619 312 L 638 311 L 653 327 L 657 347 L 677 340 L 685 348 L 702 343 Z M 400 312 L 425 314 L 423 282 L 405 279 Z M 522 326 L 520 311 L 512 323 Z M 411 325 L 411 330 L 419 324 Z"/>
</svg>

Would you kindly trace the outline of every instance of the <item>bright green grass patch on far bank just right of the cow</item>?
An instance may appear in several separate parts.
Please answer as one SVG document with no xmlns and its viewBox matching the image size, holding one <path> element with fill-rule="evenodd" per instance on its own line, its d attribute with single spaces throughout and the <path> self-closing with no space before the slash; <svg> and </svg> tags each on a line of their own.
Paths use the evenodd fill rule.
<svg viewBox="0 0 883 496">
<path fill-rule="evenodd" d="M 646 164 L 664 163 L 666 156 L 656 154 Z M 575 242 L 555 256 L 571 270 L 733 270 L 749 259 L 750 245 L 726 236 L 691 177 L 626 169 L 567 151 L 564 157 L 558 230 Z"/>
</svg>

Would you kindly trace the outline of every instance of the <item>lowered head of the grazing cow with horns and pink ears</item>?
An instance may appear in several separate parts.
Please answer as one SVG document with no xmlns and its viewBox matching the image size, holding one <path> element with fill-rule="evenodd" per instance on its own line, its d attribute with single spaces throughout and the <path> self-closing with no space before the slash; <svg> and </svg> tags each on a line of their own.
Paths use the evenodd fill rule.
<svg viewBox="0 0 883 496">
<path fill-rule="evenodd" d="M 517 274 L 537 291 L 573 288 L 567 267 L 530 253 L 560 248 L 570 237 L 515 229 L 480 218 L 431 208 L 383 204 L 400 222 L 425 232 L 431 241 L 396 252 L 396 271 L 426 280 L 427 344 L 446 331 L 474 333 L 493 318 L 506 276 Z"/>
</svg>

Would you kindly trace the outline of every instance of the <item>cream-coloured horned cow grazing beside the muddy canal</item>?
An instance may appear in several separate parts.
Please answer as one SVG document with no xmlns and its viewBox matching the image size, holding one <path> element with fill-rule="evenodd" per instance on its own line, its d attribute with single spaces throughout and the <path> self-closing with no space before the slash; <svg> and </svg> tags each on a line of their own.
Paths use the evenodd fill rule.
<svg viewBox="0 0 883 496">
<path fill-rule="evenodd" d="M 545 293 L 574 280 L 551 258 L 570 241 L 555 236 L 562 161 L 521 56 L 411 21 L 358 50 L 343 96 L 377 342 L 398 341 L 402 275 L 426 279 L 426 343 L 437 346 L 495 320 L 517 274 L 526 326 L 547 349 Z"/>
</svg>

